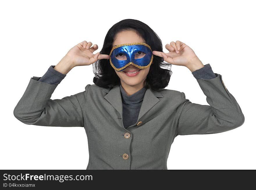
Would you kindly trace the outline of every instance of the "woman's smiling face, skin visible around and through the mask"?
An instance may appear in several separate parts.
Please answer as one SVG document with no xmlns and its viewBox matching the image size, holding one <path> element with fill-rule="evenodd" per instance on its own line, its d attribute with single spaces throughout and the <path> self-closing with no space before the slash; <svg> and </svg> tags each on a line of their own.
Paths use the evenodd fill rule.
<svg viewBox="0 0 256 190">
<path fill-rule="evenodd" d="M 129 44 L 129 43 L 134 43 L 134 42 L 144 42 L 146 43 L 136 32 L 132 30 L 126 30 L 122 32 L 118 32 L 115 36 L 115 39 L 113 41 L 112 47 L 116 46 L 118 44 Z M 137 53 L 135 55 L 135 59 L 144 57 L 145 53 Z M 144 55 L 143 55 L 144 54 Z M 137 58 L 136 58 L 137 57 Z M 126 60 L 125 55 L 118 55 L 116 57 L 119 60 Z M 134 65 L 129 65 L 127 66 L 123 71 L 116 71 L 116 74 L 120 78 L 122 86 L 138 86 L 138 88 L 142 88 L 145 85 L 145 80 L 147 78 L 147 74 L 149 72 L 150 67 L 141 69 L 134 66 Z M 138 71 L 139 70 L 139 71 Z M 138 71 L 135 74 L 129 74 L 131 72 Z M 127 73 L 129 72 L 129 73 Z"/>
</svg>

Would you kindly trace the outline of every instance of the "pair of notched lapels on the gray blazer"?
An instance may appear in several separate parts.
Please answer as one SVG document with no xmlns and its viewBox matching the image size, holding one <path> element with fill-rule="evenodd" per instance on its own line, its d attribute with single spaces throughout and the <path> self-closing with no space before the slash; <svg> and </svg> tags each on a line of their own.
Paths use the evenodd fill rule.
<svg viewBox="0 0 256 190">
<path fill-rule="evenodd" d="M 123 118 L 120 86 L 116 85 L 110 90 L 109 89 L 110 88 L 102 88 L 102 90 L 107 93 L 104 98 L 119 112 L 120 116 Z M 140 113 L 138 115 L 138 120 L 160 101 L 158 97 L 163 97 L 161 92 L 152 91 L 150 88 L 147 88 L 141 105 Z"/>
</svg>

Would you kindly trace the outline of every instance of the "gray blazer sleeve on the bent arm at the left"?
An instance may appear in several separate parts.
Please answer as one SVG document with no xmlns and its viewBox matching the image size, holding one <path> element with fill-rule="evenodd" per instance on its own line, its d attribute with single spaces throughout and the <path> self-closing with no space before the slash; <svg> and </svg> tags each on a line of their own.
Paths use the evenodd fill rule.
<svg viewBox="0 0 256 190">
<path fill-rule="evenodd" d="M 39 79 L 30 79 L 26 91 L 14 108 L 14 116 L 28 125 L 83 127 L 82 109 L 90 84 L 84 92 L 62 99 L 50 99 L 58 85 L 41 82 Z"/>
</svg>

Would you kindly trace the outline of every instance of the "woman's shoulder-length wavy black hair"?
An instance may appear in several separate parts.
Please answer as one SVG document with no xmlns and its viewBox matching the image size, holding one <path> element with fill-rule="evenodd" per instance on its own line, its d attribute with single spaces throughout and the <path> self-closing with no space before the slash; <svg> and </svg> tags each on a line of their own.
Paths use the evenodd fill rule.
<svg viewBox="0 0 256 190">
<path fill-rule="evenodd" d="M 148 44 L 152 51 L 163 51 L 162 41 L 158 35 L 145 23 L 135 19 L 124 19 L 115 23 L 107 32 L 104 44 L 100 54 L 110 54 L 115 35 L 125 30 L 133 30 L 140 35 L 145 43 Z M 153 55 L 153 62 L 150 65 L 149 73 L 146 78 L 146 88 L 154 91 L 161 91 L 168 86 L 172 71 L 170 69 L 161 68 L 171 67 L 171 64 L 164 62 L 162 57 Z M 93 82 L 97 86 L 104 88 L 112 88 L 120 84 L 120 78 L 110 64 L 109 59 L 98 59 L 93 63 Z"/>
</svg>

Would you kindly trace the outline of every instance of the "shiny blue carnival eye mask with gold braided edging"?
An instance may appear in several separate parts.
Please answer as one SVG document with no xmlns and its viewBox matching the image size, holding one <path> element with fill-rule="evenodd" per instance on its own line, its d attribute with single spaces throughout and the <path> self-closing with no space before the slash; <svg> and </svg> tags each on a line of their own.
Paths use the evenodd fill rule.
<svg viewBox="0 0 256 190">
<path fill-rule="evenodd" d="M 116 71 L 122 71 L 131 64 L 145 69 L 153 61 L 151 47 L 143 42 L 116 45 L 109 57 L 110 64 Z"/>
</svg>

